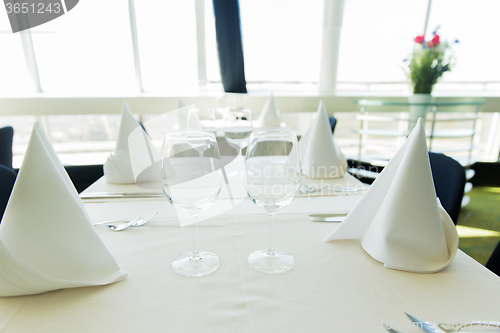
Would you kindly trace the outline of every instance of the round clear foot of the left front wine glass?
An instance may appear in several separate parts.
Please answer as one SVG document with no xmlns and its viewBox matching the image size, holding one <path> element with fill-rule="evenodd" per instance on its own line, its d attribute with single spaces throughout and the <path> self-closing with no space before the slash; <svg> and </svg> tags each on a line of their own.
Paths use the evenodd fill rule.
<svg viewBox="0 0 500 333">
<path fill-rule="evenodd" d="M 187 277 L 205 276 L 214 272 L 219 267 L 219 257 L 210 252 L 200 252 L 198 257 L 193 257 L 193 252 L 178 256 L 172 262 L 174 272 Z"/>
</svg>

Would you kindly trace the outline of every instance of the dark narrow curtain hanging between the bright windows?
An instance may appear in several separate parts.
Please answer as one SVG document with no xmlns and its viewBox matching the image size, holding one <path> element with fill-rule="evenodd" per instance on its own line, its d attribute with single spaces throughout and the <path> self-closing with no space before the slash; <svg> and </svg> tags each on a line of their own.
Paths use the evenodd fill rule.
<svg viewBox="0 0 500 333">
<path fill-rule="evenodd" d="M 225 92 L 246 93 L 238 0 L 213 0 L 220 75 Z"/>
</svg>

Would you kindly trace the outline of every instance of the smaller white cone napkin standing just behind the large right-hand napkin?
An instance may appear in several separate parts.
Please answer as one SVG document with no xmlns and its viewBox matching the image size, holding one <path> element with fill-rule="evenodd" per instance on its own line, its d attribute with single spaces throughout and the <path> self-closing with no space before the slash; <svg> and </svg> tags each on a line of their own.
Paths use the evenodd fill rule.
<svg viewBox="0 0 500 333">
<path fill-rule="evenodd" d="M 341 178 L 347 160 L 332 136 L 325 103 L 319 102 L 318 113 L 299 141 L 302 174 L 308 178 Z"/>
</svg>

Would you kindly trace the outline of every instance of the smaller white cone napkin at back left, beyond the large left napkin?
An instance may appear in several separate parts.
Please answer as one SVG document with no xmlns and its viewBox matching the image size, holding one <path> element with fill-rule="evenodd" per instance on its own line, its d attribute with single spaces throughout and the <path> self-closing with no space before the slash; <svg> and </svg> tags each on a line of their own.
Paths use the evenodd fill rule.
<svg viewBox="0 0 500 333">
<path fill-rule="evenodd" d="M 124 102 L 115 152 L 104 163 L 106 181 L 132 184 L 158 180 L 160 159 L 160 153 Z"/>
</svg>

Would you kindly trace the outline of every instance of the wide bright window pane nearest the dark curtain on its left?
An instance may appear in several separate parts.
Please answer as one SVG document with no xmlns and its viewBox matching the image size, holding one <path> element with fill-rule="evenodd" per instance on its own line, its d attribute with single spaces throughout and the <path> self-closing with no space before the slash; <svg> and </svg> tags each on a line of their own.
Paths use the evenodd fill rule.
<svg viewBox="0 0 500 333">
<path fill-rule="evenodd" d="M 194 1 L 135 1 L 142 83 L 146 92 L 197 89 L 194 4 Z"/>
</svg>

